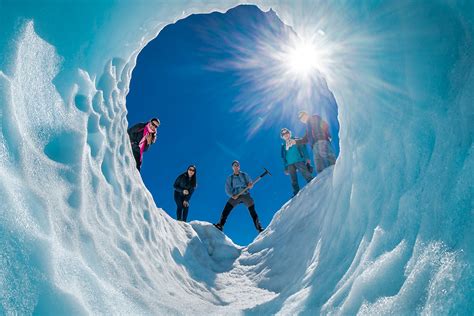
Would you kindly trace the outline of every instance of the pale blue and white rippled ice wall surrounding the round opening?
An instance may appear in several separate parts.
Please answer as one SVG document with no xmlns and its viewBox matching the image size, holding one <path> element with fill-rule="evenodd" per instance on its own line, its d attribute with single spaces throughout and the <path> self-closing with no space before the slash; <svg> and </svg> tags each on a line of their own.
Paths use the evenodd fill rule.
<svg viewBox="0 0 474 316">
<path fill-rule="evenodd" d="M 140 49 L 236 4 L 0 3 L 0 312 L 472 314 L 473 4 L 258 3 L 326 34 L 341 152 L 245 249 L 160 211 L 125 133 Z"/>
</svg>

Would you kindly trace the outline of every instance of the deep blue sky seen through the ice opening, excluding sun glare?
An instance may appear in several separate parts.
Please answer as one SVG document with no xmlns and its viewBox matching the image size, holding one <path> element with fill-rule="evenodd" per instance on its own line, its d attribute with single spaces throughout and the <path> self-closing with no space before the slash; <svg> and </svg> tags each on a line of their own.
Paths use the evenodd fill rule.
<svg viewBox="0 0 474 316">
<path fill-rule="evenodd" d="M 218 221 L 228 199 L 224 183 L 234 159 L 252 178 L 264 167 L 272 173 L 251 191 L 264 227 L 291 198 L 279 131 L 287 127 L 302 136 L 304 126 L 296 114 L 301 109 L 320 112 L 321 98 L 296 102 L 298 82 L 283 88 L 273 85 L 273 73 L 261 85 L 266 79 L 260 74 L 275 68 L 268 58 L 256 68 L 247 67 L 262 55 L 255 49 L 261 46 L 262 34 L 285 40 L 291 32 L 271 11 L 239 6 L 226 14 L 192 15 L 168 25 L 139 54 L 127 96 L 128 122 L 132 126 L 151 117 L 161 120 L 157 142 L 144 155 L 141 175 L 157 206 L 173 218 L 173 183 L 190 164 L 197 166 L 198 187 L 188 222 Z M 337 107 L 332 94 L 325 100 L 324 116 L 337 144 Z M 234 208 L 224 231 L 240 245 L 257 236 L 244 205 Z"/>
</svg>

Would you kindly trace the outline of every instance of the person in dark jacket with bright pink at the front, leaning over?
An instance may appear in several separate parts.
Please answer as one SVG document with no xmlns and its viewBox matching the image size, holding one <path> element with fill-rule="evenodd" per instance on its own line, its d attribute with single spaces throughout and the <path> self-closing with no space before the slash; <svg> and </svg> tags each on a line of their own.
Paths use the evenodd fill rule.
<svg viewBox="0 0 474 316">
<path fill-rule="evenodd" d="M 160 120 L 152 118 L 148 123 L 138 123 L 127 130 L 138 171 L 142 165 L 143 153 L 156 141 L 156 130 L 159 126 Z"/>
</svg>

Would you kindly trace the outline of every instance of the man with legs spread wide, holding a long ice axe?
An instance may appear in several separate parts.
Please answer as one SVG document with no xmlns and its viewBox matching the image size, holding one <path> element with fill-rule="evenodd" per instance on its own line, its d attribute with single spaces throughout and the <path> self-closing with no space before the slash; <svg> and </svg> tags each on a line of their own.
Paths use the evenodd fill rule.
<svg viewBox="0 0 474 316">
<path fill-rule="evenodd" d="M 252 180 L 247 173 L 240 171 L 240 163 L 237 160 L 232 162 L 232 170 L 233 173 L 227 177 L 227 181 L 225 183 L 225 192 L 229 196 L 229 200 L 227 200 L 219 222 L 214 224 L 214 226 L 216 226 L 217 229 L 222 230 L 224 228 L 225 222 L 227 221 L 227 216 L 230 214 L 230 211 L 232 211 L 232 209 L 240 203 L 244 203 L 249 209 L 249 213 L 250 216 L 252 216 L 255 228 L 260 233 L 263 231 L 263 228 L 260 224 L 260 221 L 258 220 L 258 215 L 255 211 L 255 203 L 249 192 L 249 190 L 253 188 Z M 247 191 L 239 195 L 239 193 L 245 189 L 247 189 Z"/>
</svg>

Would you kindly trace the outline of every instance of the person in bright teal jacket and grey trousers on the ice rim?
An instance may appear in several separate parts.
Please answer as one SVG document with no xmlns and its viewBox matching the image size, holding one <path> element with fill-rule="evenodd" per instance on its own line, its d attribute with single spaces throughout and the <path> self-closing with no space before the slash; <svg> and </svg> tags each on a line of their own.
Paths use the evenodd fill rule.
<svg viewBox="0 0 474 316">
<path fill-rule="evenodd" d="M 292 137 L 289 129 L 281 129 L 281 138 L 284 140 L 281 145 L 281 158 L 285 167 L 285 174 L 290 175 L 293 196 L 295 196 L 300 190 L 296 175 L 297 170 L 301 172 L 307 183 L 313 179 L 311 160 L 306 145 L 298 144 L 297 139 Z"/>
</svg>

